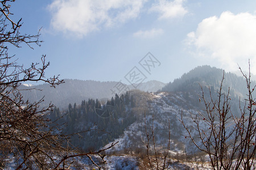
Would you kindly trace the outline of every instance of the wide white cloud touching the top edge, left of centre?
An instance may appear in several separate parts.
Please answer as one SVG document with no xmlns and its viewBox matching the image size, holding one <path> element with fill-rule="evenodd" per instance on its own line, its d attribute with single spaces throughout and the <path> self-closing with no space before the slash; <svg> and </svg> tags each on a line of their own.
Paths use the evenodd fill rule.
<svg viewBox="0 0 256 170">
<path fill-rule="evenodd" d="M 54 0 L 51 26 L 57 31 L 86 36 L 89 32 L 137 18 L 147 0 Z"/>
</svg>

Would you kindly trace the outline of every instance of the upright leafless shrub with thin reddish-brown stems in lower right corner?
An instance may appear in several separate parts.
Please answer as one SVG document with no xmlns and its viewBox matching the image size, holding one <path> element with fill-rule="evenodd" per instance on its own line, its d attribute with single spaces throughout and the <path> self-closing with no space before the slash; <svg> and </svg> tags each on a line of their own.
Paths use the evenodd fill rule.
<svg viewBox="0 0 256 170">
<path fill-rule="evenodd" d="M 242 72 L 241 68 L 240 71 L 247 84 L 247 99 L 243 107 L 241 104 L 239 106 L 240 116 L 234 116 L 231 113 L 229 90 L 226 94 L 222 92 L 224 74 L 217 100 L 213 100 L 209 89 L 210 100 L 207 101 L 201 87 L 200 98 L 205 105 L 205 114 L 200 112 L 196 116 L 191 114 L 192 126 L 185 125 L 181 113 L 180 122 L 188 133 L 185 138 L 190 138 L 199 150 L 209 156 L 213 169 L 251 169 L 254 165 L 256 103 L 253 97 L 255 85 L 251 85 L 250 79 L 250 62 L 248 76 Z M 206 127 L 202 127 L 202 124 Z M 196 132 L 199 141 L 193 136 L 193 132 Z"/>
</svg>

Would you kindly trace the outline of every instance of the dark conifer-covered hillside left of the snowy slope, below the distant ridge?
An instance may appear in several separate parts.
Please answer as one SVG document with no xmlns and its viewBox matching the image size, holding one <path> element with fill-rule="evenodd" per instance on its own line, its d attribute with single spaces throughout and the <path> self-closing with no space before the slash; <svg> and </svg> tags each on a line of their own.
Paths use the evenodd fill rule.
<svg viewBox="0 0 256 170">
<path fill-rule="evenodd" d="M 50 114 L 51 120 L 57 120 L 57 124 L 64 126 L 65 134 L 73 134 L 82 131 L 80 135 L 73 135 L 71 143 L 83 150 L 96 150 L 110 141 L 114 141 L 119 135 L 136 120 L 135 99 L 130 92 L 116 94 L 111 100 L 101 104 L 96 99 L 82 100 L 81 104 L 69 104 L 67 111 L 60 112 L 54 108 Z"/>
</svg>

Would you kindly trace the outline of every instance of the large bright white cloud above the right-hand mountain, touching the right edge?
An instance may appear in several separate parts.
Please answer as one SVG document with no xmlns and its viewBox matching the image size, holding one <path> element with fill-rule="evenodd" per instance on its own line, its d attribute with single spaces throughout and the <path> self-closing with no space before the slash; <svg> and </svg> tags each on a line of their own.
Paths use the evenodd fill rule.
<svg viewBox="0 0 256 170">
<path fill-rule="evenodd" d="M 256 68 L 256 15 L 222 12 L 220 18 L 212 16 L 199 23 L 186 41 L 197 55 L 218 61 L 228 71 L 237 71 L 237 63 L 246 69 L 249 58 Z"/>
</svg>

